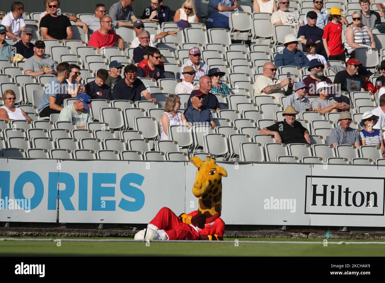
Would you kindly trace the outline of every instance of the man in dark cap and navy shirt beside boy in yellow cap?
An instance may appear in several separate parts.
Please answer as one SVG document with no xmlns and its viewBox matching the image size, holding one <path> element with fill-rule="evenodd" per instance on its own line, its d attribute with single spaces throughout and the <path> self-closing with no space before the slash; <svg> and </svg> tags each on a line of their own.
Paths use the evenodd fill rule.
<svg viewBox="0 0 385 283">
<path fill-rule="evenodd" d="M 302 50 L 306 50 L 306 45 L 310 42 L 316 44 L 315 53 L 326 56 L 325 49 L 322 44 L 323 29 L 316 26 L 317 13 L 310 11 L 306 15 L 306 25 L 298 29 L 298 37 L 301 39 Z M 311 60 L 311 59 L 309 59 Z"/>
</svg>

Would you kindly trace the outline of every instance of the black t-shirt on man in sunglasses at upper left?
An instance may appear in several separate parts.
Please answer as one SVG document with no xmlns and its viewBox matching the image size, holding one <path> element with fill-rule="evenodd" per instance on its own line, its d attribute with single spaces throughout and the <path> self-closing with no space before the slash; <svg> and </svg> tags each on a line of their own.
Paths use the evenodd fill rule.
<svg viewBox="0 0 385 283">
<path fill-rule="evenodd" d="M 67 27 L 70 26 L 70 20 L 65 15 L 60 15 L 55 18 L 49 14 L 40 20 L 40 28 L 48 28 L 48 35 L 57 40 L 67 38 Z"/>
</svg>

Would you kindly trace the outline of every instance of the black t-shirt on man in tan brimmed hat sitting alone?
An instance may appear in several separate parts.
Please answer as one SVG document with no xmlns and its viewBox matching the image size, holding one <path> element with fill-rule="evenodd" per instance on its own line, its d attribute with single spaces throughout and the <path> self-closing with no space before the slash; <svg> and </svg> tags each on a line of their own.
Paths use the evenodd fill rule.
<svg viewBox="0 0 385 283">
<path fill-rule="evenodd" d="M 283 126 L 280 126 L 280 125 Z M 280 131 L 280 127 L 281 130 Z M 269 131 L 275 131 L 280 134 L 282 138 L 282 142 L 284 144 L 294 144 L 294 143 L 301 143 L 301 144 L 307 144 L 305 137 L 303 136 L 305 134 L 306 128 L 302 126 L 302 124 L 298 121 L 294 122 L 294 127 L 291 127 L 286 120 L 276 122 L 275 124 L 266 127 Z"/>
</svg>

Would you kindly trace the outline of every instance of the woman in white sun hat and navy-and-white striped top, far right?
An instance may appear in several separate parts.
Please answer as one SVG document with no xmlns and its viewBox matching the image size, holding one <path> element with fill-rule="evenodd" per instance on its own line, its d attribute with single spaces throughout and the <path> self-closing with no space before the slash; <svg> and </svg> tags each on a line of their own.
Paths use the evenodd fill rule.
<svg viewBox="0 0 385 283">
<path fill-rule="evenodd" d="M 382 150 L 382 157 L 385 157 L 384 138 L 381 130 L 373 129 L 378 122 L 378 116 L 367 111 L 362 115 L 360 122 L 361 127 L 365 128 L 360 131 L 360 141 L 362 146 L 378 146 Z"/>
</svg>

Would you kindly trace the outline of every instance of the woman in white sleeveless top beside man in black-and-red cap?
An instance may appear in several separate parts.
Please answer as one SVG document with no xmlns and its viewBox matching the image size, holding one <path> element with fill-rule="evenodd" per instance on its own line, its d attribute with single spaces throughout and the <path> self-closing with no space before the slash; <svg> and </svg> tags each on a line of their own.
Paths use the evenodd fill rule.
<svg viewBox="0 0 385 283">
<path fill-rule="evenodd" d="M 181 99 L 176 94 L 169 94 L 164 105 L 164 113 L 159 118 L 161 125 L 161 141 L 167 141 L 167 127 L 169 125 L 184 125 L 186 126 L 187 119 L 181 111 Z"/>
</svg>

